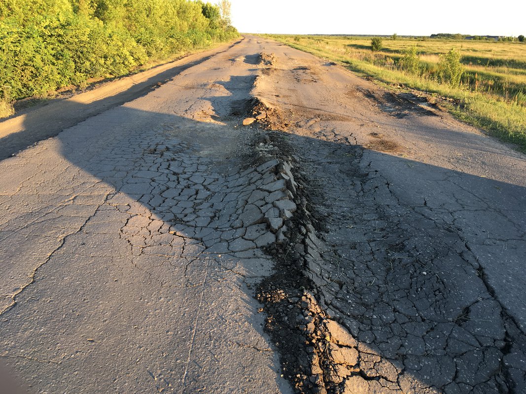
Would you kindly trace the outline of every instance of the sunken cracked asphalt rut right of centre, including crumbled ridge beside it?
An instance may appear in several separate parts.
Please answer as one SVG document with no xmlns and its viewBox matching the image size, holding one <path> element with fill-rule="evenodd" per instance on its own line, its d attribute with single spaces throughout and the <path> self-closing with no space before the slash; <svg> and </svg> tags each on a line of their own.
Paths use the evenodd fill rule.
<svg viewBox="0 0 526 394">
<path fill-rule="evenodd" d="M 279 115 L 269 127 L 285 122 Z M 287 246 L 267 248 L 276 274 L 258 293 L 295 390 L 522 392 L 524 369 L 510 361 L 524 357 L 524 335 L 467 241 L 427 215 L 425 201 L 404 206 L 363 163 L 363 148 L 335 130 L 318 132 L 309 149 L 294 149 L 304 137 L 270 135 L 309 201 L 286 224 Z M 326 322 L 351 340 L 338 347 Z"/>
</svg>

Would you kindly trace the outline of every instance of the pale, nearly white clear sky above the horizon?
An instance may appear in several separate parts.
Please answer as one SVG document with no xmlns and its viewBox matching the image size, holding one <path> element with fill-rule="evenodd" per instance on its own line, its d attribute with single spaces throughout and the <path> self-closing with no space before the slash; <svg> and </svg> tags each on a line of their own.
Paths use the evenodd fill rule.
<svg viewBox="0 0 526 394">
<path fill-rule="evenodd" d="M 526 36 L 526 0 L 231 0 L 242 33 Z"/>
</svg>

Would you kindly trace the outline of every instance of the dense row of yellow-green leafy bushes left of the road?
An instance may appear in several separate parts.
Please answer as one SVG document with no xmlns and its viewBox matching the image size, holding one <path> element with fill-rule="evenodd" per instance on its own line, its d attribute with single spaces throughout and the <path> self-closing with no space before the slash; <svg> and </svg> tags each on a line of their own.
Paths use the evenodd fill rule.
<svg viewBox="0 0 526 394">
<path fill-rule="evenodd" d="M 228 11 L 200 1 L 2 1 L 0 118 L 12 115 L 14 100 L 85 87 L 238 36 Z"/>
</svg>

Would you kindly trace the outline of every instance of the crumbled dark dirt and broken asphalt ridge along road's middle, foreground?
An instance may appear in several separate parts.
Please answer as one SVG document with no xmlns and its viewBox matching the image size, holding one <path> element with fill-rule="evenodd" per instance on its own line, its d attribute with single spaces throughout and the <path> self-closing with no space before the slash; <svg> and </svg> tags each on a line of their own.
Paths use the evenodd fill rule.
<svg viewBox="0 0 526 394">
<path fill-rule="evenodd" d="M 319 256 L 321 217 L 304 193 L 306 181 L 294 170 L 294 151 L 279 133 L 263 134 L 260 146 L 271 146 L 281 162 L 277 175 L 285 175 L 289 195 L 297 206 L 277 236 L 265 248 L 275 260 L 275 271 L 257 287 L 264 307 L 265 330 L 279 350 L 281 368 L 298 393 L 340 392 L 339 387 L 358 363 L 356 341 L 347 329 L 331 320 L 316 300 L 309 277 L 313 256 Z"/>
</svg>

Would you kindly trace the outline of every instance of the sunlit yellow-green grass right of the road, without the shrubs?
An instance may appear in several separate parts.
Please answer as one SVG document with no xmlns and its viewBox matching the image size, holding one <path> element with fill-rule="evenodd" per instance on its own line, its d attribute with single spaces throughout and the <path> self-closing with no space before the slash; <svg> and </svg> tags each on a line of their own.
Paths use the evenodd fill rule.
<svg viewBox="0 0 526 394">
<path fill-rule="evenodd" d="M 431 95 L 431 98 L 435 97 L 437 100 L 440 100 L 441 97 L 448 98 L 453 103 L 446 100 L 444 102 L 454 116 L 486 130 L 501 141 L 514 143 L 520 151 L 526 152 L 526 102 L 523 100 L 526 93 L 526 45 L 484 43 L 483 47 L 471 48 L 472 52 L 478 52 L 479 61 L 474 65 L 466 65 L 461 85 L 454 87 L 441 83 L 438 79 L 430 77 L 429 74 L 413 75 L 397 67 L 397 61 L 402 56 L 403 50 L 409 45 L 414 45 L 414 39 L 392 40 L 388 42 L 389 47 L 384 51 L 371 53 L 368 47 L 370 38 L 284 35 L 265 35 L 265 37 L 336 61 L 359 75 L 372 77 L 384 84 L 403 85 L 426 92 Z M 418 44 L 420 65 L 426 70 L 432 69 L 438 63 L 437 48 L 433 46 L 451 48 L 462 45 L 461 52 L 466 53 L 469 52 L 467 46 L 471 43 L 437 40 L 437 43 Z M 511 48 L 518 48 L 518 50 L 510 51 L 509 48 L 503 48 L 503 45 L 510 45 Z M 495 57 L 495 49 L 500 50 L 499 57 Z M 514 57 L 503 58 L 502 49 L 508 56 Z M 447 51 L 447 49 L 444 50 Z M 510 65 L 515 67 L 510 67 Z M 479 75 L 483 77 L 499 75 L 488 79 L 485 84 L 481 83 L 484 81 L 483 77 L 473 82 L 466 79 L 470 78 L 473 70 L 476 70 L 477 78 Z M 473 88 L 472 85 L 476 88 Z M 515 92 L 515 95 L 510 92 Z"/>
</svg>

